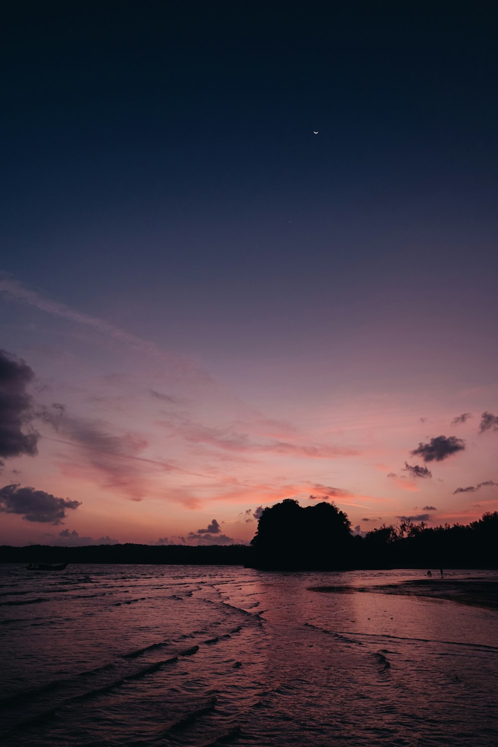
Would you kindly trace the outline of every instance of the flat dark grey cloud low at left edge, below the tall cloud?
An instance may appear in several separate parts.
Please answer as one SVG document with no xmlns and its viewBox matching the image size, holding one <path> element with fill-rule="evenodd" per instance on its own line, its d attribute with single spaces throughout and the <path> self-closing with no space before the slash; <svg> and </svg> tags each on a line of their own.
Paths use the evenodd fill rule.
<svg viewBox="0 0 498 747">
<path fill-rule="evenodd" d="M 62 524 L 66 509 L 77 509 L 79 500 L 55 498 L 55 495 L 34 488 L 21 488 L 19 483 L 0 488 L 0 511 L 22 514 L 26 521 Z"/>
</svg>

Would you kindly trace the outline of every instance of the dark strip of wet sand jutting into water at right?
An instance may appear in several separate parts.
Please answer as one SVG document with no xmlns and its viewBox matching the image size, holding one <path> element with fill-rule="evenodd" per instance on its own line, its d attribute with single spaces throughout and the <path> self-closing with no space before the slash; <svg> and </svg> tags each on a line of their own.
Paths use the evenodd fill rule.
<svg viewBox="0 0 498 747">
<path fill-rule="evenodd" d="M 453 580 L 452 578 L 427 578 L 408 580 L 404 583 L 385 583 L 374 586 L 310 586 L 311 592 L 342 594 L 394 594 L 402 596 L 429 597 L 468 604 L 471 607 L 485 607 L 498 610 L 498 581 L 469 577 Z"/>
</svg>

